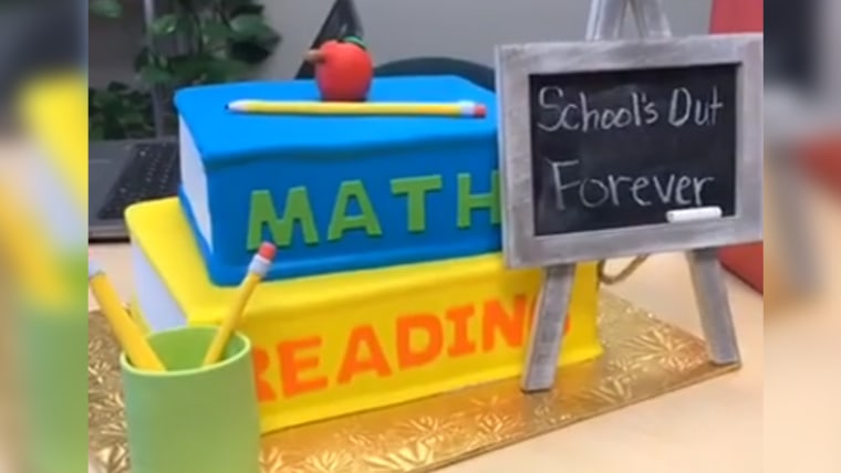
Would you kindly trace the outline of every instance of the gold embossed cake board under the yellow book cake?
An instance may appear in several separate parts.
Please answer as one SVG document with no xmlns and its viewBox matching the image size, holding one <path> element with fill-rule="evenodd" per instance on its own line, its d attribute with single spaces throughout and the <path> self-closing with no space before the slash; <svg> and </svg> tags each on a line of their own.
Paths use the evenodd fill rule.
<svg viewBox="0 0 841 473">
<path fill-rule="evenodd" d="M 426 472 L 731 371 L 704 341 L 603 292 L 605 354 L 564 368 L 556 389 L 523 396 L 492 382 L 392 408 L 280 431 L 263 439 L 264 473 Z M 89 431 L 105 473 L 129 472 L 118 348 L 103 317 L 89 337 Z"/>
</svg>

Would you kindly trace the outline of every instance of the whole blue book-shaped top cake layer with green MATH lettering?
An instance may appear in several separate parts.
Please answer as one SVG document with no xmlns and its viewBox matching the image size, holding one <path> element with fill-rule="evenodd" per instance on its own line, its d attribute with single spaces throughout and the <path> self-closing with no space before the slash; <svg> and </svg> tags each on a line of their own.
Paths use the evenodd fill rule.
<svg viewBox="0 0 841 473">
<path fill-rule="evenodd" d="M 214 283 L 239 283 L 262 240 L 279 248 L 268 280 L 499 250 L 492 93 L 457 77 L 374 82 L 374 99 L 475 101 L 488 108 L 481 119 L 224 111 L 233 99 L 314 94 L 310 82 L 285 82 L 178 95 L 205 168 L 209 235 L 201 234 L 193 196 L 183 192 L 181 201 Z"/>
</svg>

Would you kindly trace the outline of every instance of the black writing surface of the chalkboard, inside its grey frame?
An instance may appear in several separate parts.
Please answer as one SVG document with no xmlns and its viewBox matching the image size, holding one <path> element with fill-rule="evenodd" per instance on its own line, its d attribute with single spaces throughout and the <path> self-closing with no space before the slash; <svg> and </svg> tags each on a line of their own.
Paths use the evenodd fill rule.
<svg viewBox="0 0 841 473">
<path fill-rule="evenodd" d="M 536 235 L 733 216 L 738 67 L 529 75 Z"/>
</svg>

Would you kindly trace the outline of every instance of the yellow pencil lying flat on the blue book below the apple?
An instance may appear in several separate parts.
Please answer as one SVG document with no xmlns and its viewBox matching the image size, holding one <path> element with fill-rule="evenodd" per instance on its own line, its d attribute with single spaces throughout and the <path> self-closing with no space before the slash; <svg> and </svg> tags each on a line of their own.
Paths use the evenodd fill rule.
<svg viewBox="0 0 841 473">
<path fill-rule="evenodd" d="M 442 116 L 482 118 L 487 108 L 476 102 L 401 103 L 401 102 L 282 102 L 233 101 L 227 108 L 246 114 L 271 115 L 357 115 L 357 116 Z"/>
</svg>

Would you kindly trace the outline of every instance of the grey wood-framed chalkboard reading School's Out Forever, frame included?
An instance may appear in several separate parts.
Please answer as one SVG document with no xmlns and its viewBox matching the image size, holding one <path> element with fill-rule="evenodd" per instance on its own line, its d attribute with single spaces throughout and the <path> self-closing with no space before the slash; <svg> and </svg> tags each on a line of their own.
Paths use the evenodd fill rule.
<svg viewBox="0 0 841 473">
<path fill-rule="evenodd" d="M 510 267 L 761 240 L 761 34 L 509 44 L 496 61 Z"/>
</svg>

